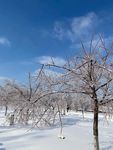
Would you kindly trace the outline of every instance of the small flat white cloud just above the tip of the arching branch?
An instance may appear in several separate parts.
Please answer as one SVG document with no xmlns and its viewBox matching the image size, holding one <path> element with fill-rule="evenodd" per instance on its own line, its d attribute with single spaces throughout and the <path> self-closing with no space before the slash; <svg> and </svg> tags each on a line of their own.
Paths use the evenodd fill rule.
<svg viewBox="0 0 113 150">
<path fill-rule="evenodd" d="M 64 65 L 66 61 L 61 57 L 51 57 L 51 56 L 41 56 L 35 59 L 35 61 L 41 63 L 41 64 L 51 64 L 55 63 L 56 65 Z"/>
</svg>

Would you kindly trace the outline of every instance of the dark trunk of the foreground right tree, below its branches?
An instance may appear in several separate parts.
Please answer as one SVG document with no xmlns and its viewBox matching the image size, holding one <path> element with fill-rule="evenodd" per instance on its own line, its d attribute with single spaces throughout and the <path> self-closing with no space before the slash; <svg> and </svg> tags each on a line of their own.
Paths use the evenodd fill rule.
<svg viewBox="0 0 113 150">
<path fill-rule="evenodd" d="M 93 136 L 94 136 L 94 150 L 99 150 L 98 138 L 98 100 L 94 100 L 94 120 L 93 120 Z"/>
</svg>

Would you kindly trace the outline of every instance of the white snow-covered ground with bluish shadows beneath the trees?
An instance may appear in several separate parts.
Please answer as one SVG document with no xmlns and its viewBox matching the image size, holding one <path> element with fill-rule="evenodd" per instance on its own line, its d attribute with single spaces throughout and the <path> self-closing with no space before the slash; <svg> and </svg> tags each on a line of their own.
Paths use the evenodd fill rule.
<svg viewBox="0 0 113 150">
<path fill-rule="evenodd" d="M 93 150 L 92 113 L 70 112 L 63 118 L 63 136 L 58 138 L 60 129 L 32 129 L 28 127 L 4 126 L 0 115 L 0 150 Z M 101 150 L 113 150 L 113 121 L 99 117 L 99 138 Z"/>
</svg>

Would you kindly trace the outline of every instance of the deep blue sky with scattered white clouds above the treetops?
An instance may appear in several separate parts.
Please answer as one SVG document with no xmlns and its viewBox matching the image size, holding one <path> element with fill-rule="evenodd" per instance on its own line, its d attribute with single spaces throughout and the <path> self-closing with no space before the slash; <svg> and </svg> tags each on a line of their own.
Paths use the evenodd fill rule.
<svg viewBox="0 0 113 150">
<path fill-rule="evenodd" d="M 25 81 L 39 63 L 64 64 L 80 40 L 113 38 L 112 0 L 0 0 L 0 80 Z"/>
</svg>

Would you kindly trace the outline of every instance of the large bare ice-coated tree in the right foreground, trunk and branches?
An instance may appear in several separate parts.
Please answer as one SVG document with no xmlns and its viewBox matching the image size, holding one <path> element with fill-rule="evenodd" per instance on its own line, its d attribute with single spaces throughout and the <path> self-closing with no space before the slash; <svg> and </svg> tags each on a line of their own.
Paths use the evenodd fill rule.
<svg viewBox="0 0 113 150">
<path fill-rule="evenodd" d="M 96 44 L 91 41 L 90 49 L 86 50 L 82 44 L 83 55 L 74 57 L 64 66 L 54 63 L 47 66 L 58 67 L 65 71 L 60 82 L 63 88 L 59 92 L 79 93 L 90 98 L 93 104 L 93 136 L 94 149 L 99 150 L 98 138 L 98 114 L 99 105 L 106 105 L 112 101 L 112 75 L 110 69 L 112 47 L 107 49 L 103 39 L 100 37 Z M 62 79 L 64 81 L 64 79 Z"/>
</svg>

